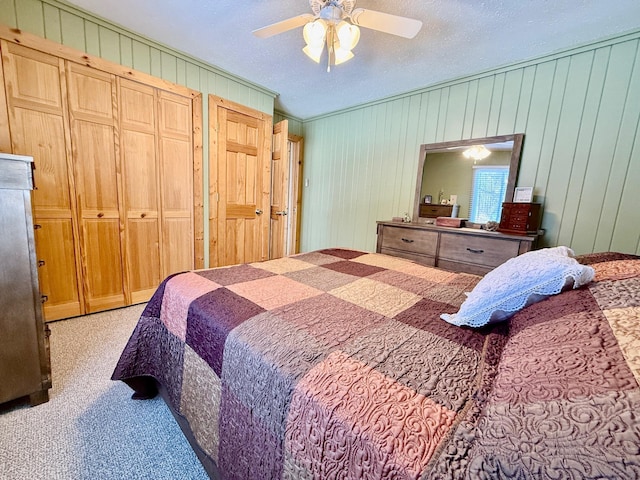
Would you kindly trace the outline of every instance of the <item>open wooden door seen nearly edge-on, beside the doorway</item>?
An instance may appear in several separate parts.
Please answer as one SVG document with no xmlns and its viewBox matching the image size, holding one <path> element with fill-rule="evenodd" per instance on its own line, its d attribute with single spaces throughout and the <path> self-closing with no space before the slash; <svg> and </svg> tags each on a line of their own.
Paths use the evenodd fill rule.
<svg viewBox="0 0 640 480">
<path fill-rule="evenodd" d="M 273 126 L 271 152 L 271 231 L 269 258 L 288 254 L 289 214 L 289 122 Z"/>
</svg>

